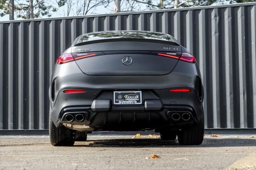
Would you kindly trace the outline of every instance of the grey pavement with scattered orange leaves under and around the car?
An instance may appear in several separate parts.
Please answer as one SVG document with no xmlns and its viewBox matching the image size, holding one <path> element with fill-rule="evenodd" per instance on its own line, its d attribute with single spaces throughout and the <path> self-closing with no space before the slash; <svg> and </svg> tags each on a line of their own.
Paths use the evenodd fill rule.
<svg viewBox="0 0 256 170">
<path fill-rule="evenodd" d="M 89 134 L 73 147 L 52 146 L 49 136 L 0 136 L 0 169 L 255 170 L 256 136 L 206 135 L 199 146 L 180 146 L 159 136 Z"/>
</svg>

